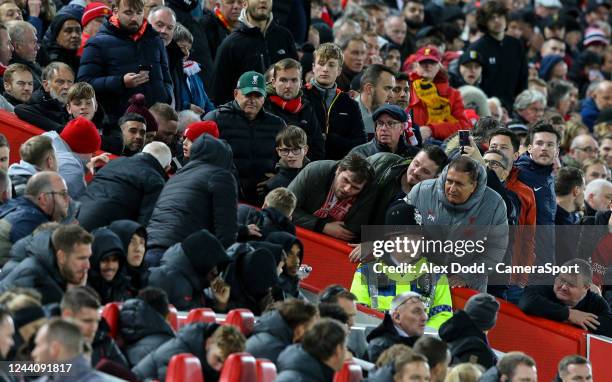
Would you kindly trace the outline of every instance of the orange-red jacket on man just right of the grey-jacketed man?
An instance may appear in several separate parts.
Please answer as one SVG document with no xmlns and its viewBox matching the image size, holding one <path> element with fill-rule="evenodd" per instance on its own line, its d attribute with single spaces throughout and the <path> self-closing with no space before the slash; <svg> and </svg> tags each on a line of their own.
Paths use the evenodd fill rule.
<svg viewBox="0 0 612 382">
<path fill-rule="evenodd" d="M 536 204 L 535 194 L 531 187 L 518 179 L 520 170 L 513 167 L 506 179 L 506 188 L 514 192 L 520 202 L 521 211 L 519 214 L 519 225 L 516 227 L 514 237 L 514 248 L 512 255 L 512 265 L 533 265 L 535 263 L 535 225 L 536 225 Z M 527 274 L 512 274 L 510 282 L 512 284 L 527 285 Z"/>
</svg>

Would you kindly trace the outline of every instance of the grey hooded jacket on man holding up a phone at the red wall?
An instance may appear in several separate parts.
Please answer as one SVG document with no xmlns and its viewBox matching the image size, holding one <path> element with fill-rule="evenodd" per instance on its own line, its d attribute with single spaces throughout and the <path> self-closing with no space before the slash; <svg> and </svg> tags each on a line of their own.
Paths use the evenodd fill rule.
<svg viewBox="0 0 612 382">
<path fill-rule="evenodd" d="M 442 240 L 484 241 L 486 238 L 484 252 L 463 257 L 453 254 L 449 257 L 450 262 L 462 265 L 484 263 L 485 268 L 495 267 L 503 260 L 508 246 L 508 218 L 503 199 L 487 187 L 486 171 L 478 165 L 478 184 L 472 195 L 463 204 L 451 204 L 444 191 L 447 174 L 448 166 L 437 179 L 416 184 L 408 194 L 409 203 L 423 214 L 426 231 L 444 231 L 437 233 L 437 236 L 432 235 L 436 238 L 439 238 L 440 233 L 445 236 L 440 238 Z M 427 226 L 432 226 L 431 230 Z M 461 274 L 461 277 L 470 288 L 486 290 L 486 273 L 466 273 Z"/>
</svg>

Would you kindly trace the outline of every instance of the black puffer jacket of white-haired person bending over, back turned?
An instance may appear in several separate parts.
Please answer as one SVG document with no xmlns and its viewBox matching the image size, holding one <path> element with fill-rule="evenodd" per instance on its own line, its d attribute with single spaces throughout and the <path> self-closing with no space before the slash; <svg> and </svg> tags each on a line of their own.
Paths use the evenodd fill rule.
<svg viewBox="0 0 612 382">
<path fill-rule="evenodd" d="M 146 226 L 166 179 L 162 166 L 148 153 L 111 161 L 96 173 L 79 199 L 79 223 L 87 230 L 120 219 Z"/>
</svg>

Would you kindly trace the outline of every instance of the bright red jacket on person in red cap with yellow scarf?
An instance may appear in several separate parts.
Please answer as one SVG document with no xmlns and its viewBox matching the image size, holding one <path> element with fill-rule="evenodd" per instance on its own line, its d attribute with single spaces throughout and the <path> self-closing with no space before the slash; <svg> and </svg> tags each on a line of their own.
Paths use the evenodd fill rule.
<svg viewBox="0 0 612 382">
<path fill-rule="evenodd" d="M 414 80 L 420 79 L 416 73 L 410 74 L 410 83 Z M 421 100 L 417 97 L 414 87 L 410 87 L 410 108 L 414 114 L 414 122 L 419 126 L 429 126 L 432 130 L 432 136 L 435 139 L 444 140 L 456 133 L 458 130 L 467 130 L 471 129 L 472 125 L 470 121 L 465 117 L 463 110 L 463 99 L 461 98 L 461 93 L 457 89 L 451 87 L 448 83 L 448 77 L 443 72 L 438 72 L 436 78 L 434 78 L 434 84 L 438 89 L 438 95 L 440 97 L 446 98 L 449 100 L 451 114 L 456 122 L 441 122 L 441 123 L 427 123 L 429 119 L 429 115 L 427 112 L 427 107 Z"/>
</svg>

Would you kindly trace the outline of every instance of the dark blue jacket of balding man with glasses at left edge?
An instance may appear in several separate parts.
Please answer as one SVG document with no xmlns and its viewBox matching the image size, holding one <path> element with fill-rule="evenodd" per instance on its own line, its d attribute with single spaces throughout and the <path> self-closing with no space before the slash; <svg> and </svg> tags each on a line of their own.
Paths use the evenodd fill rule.
<svg viewBox="0 0 612 382">
<path fill-rule="evenodd" d="M 50 220 L 40 207 L 23 196 L 0 206 L 0 264 L 8 260 L 9 251 L 17 240 Z"/>
</svg>

